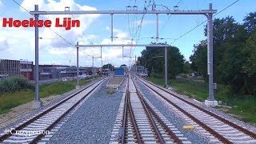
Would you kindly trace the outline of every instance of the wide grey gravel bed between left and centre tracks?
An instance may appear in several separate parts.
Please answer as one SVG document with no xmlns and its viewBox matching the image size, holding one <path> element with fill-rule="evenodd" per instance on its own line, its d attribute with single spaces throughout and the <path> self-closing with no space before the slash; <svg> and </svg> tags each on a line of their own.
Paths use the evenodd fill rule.
<svg viewBox="0 0 256 144">
<path fill-rule="evenodd" d="M 123 82 L 118 93 L 107 95 L 103 82 L 48 143 L 109 143 L 125 85 Z"/>
</svg>

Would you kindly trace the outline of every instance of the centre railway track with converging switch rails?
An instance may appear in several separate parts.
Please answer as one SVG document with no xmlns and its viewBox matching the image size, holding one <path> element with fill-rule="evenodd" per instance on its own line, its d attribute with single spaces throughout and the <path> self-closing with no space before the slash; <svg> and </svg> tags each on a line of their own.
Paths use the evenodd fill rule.
<svg viewBox="0 0 256 144">
<path fill-rule="evenodd" d="M 128 80 L 119 143 L 191 143 Z M 111 143 L 111 142 L 110 142 Z"/>
</svg>

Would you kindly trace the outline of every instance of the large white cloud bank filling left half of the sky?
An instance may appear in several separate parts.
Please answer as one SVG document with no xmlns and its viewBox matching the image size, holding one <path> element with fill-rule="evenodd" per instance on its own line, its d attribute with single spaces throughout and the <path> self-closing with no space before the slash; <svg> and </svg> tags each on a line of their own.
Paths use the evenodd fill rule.
<svg viewBox="0 0 256 144">
<path fill-rule="evenodd" d="M 97 10 L 94 7 L 81 6 L 75 3 L 74 0 L 24 0 L 22 2 L 22 6 L 29 11 L 34 10 L 34 4 L 38 4 L 39 10 L 63 11 L 65 10 L 65 6 L 70 6 L 70 10 Z M 29 16 L 24 10 L 20 10 L 24 15 Z M 40 19 L 50 19 L 52 22 L 55 22 L 55 18 L 64 18 L 64 16 L 65 15 L 44 15 L 40 17 Z M 99 35 L 86 34 L 85 36 L 82 31 L 86 33 L 86 30 L 94 24 L 99 16 L 99 14 L 74 15 L 74 18 L 80 20 L 81 23 L 80 27 L 71 28 L 71 30 L 56 28 L 54 27 L 55 23 L 50 27 L 51 30 L 48 28 L 40 28 L 39 37 L 42 39 L 39 39 L 39 63 L 75 65 L 76 48 L 70 46 L 70 44 L 65 42 L 62 38 L 65 38 L 72 45 L 75 45 L 76 42 L 79 42 L 79 44 L 90 44 L 90 41 L 94 42 L 94 44 L 127 44 L 130 42 L 130 40 L 125 39 L 128 38 L 128 34 L 118 29 L 114 29 L 114 36 L 118 37 L 114 38 L 114 42 L 111 42 L 110 38 L 102 38 Z M 66 17 L 74 19 L 71 15 L 66 15 Z M 2 18 L 0 18 L 0 20 L 1 19 Z M 62 38 L 54 34 L 52 30 L 61 35 Z M 106 30 L 110 30 L 110 27 L 106 26 Z M 0 38 L 2 38 L 0 45 L 3 46 L 0 47 L 0 51 L 5 50 L 4 53 L 0 53 L 0 58 L 26 58 L 30 61 L 34 61 L 34 28 L 0 27 L 0 31 Z M 95 42 L 94 39 L 98 39 L 98 42 Z M 100 56 L 100 48 L 80 48 L 80 50 L 80 66 L 91 66 L 92 54 L 94 54 L 94 56 Z M 124 53 L 126 55 L 130 54 L 130 48 L 125 47 Z M 126 63 L 127 59 L 130 59 L 122 59 L 122 47 L 103 47 L 102 57 L 104 62 L 108 61 L 115 66 L 120 66 Z M 94 66 L 101 66 L 100 58 L 95 59 L 94 62 Z"/>
</svg>

